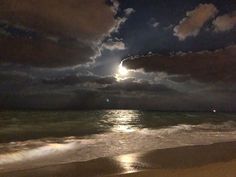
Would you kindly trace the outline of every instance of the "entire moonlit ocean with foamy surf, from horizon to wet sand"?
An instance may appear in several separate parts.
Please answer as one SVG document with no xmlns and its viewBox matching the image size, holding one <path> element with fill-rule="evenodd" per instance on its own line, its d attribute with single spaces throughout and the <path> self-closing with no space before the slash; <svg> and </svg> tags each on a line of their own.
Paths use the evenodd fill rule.
<svg viewBox="0 0 236 177">
<path fill-rule="evenodd" d="M 235 113 L 2 111 L 0 170 L 235 140 Z"/>
</svg>

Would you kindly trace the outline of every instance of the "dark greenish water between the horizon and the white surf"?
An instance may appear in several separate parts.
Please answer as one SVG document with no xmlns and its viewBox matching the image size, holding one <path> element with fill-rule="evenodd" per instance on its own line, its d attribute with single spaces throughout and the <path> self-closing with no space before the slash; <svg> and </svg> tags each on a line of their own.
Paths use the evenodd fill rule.
<svg viewBox="0 0 236 177">
<path fill-rule="evenodd" d="M 138 110 L 6 111 L 0 112 L 0 143 L 104 132 L 132 132 L 143 128 L 160 129 L 180 124 L 217 125 L 228 121 L 231 121 L 233 127 L 236 114 Z M 229 125 L 228 128 L 232 127 Z"/>
</svg>

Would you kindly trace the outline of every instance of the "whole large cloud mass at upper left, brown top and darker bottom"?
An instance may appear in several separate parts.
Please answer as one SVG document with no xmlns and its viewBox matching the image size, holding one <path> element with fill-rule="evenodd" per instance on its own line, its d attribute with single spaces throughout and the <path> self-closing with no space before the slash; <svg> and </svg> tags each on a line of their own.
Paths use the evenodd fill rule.
<svg viewBox="0 0 236 177">
<path fill-rule="evenodd" d="M 11 28 L 0 30 L 0 62 L 36 67 L 91 62 L 100 55 L 101 40 L 119 28 L 116 10 L 104 0 L 2 0 L 0 21 Z"/>
</svg>

